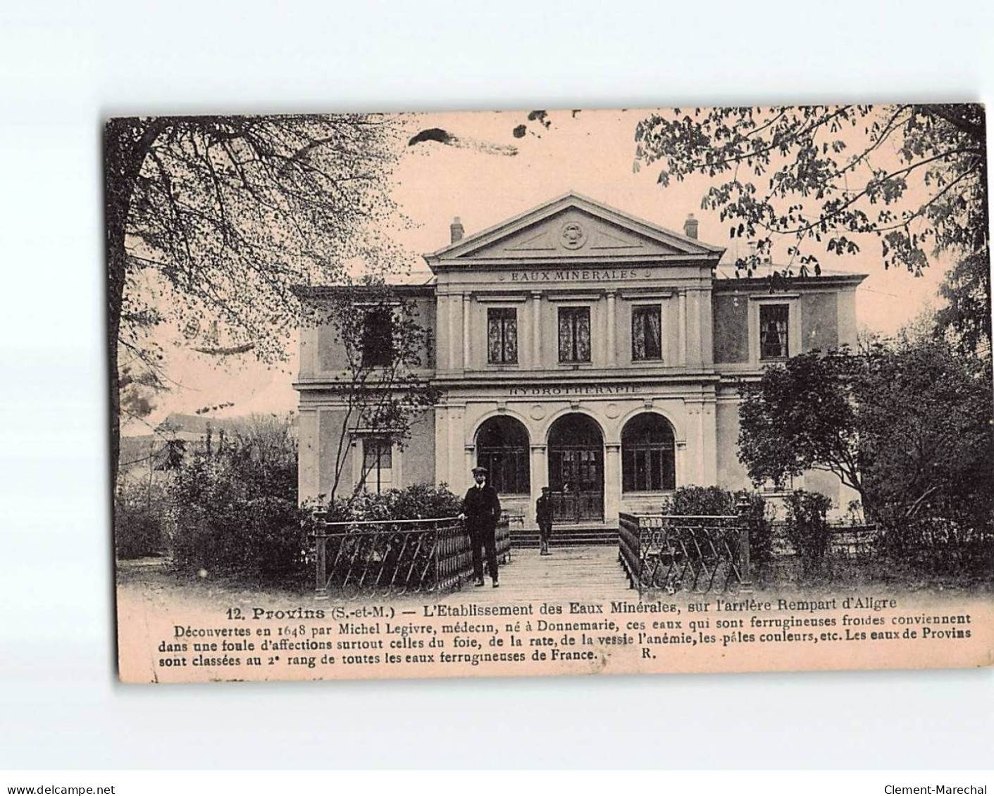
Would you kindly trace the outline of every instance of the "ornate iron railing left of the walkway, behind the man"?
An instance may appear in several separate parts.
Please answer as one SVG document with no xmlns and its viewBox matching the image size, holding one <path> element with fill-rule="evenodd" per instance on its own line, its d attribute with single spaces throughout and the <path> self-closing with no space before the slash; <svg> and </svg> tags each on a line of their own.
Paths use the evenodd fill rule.
<svg viewBox="0 0 994 796">
<path fill-rule="evenodd" d="M 442 592 L 473 572 L 472 545 L 458 517 L 326 522 L 314 534 L 318 597 Z M 511 558 L 507 520 L 496 530 L 497 558 Z"/>
</svg>

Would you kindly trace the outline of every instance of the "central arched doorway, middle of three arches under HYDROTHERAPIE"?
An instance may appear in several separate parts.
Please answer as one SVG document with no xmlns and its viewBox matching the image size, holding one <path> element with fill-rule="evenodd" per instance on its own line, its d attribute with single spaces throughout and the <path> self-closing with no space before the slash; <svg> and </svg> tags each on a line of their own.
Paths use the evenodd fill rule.
<svg viewBox="0 0 994 796">
<path fill-rule="evenodd" d="M 564 415 L 549 430 L 554 522 L 604 518 L 604 441 L 586 415 Z"/>
</svg>

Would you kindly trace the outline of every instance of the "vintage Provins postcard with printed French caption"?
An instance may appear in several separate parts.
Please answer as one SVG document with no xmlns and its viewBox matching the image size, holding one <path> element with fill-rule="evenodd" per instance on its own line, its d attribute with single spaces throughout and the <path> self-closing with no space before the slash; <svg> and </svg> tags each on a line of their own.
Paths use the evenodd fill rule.
<svg viewBox="0 0 994 796">
<path fill-rule="evenodd" d="M 985 131 L 110 119 L 121 680 L 991 665 Z"/>
</svg>

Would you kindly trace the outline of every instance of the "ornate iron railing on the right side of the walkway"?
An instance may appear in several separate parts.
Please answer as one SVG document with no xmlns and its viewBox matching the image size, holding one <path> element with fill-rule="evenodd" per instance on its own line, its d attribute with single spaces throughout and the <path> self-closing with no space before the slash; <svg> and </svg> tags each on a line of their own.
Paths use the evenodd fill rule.
<svg viewBox="0 0 994 796">
<path fill-rule="evenodd" d="M 751 589 L 748 526 L 739 516 L 619 514 L 618 561 L 632 589 Z"/>
</svg>

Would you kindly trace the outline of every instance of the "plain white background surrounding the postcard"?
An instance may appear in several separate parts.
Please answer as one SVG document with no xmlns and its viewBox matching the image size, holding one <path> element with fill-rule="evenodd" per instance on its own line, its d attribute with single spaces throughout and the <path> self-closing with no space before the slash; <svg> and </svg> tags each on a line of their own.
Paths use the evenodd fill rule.
<svg viewBox="0 0 994 796">
<path fill-rule="evenodd" d="M 0 767 L 994 766 L 991 669 L 118 685 L 97 145 L 121 113 L 983 100 L 992 22 L 908 0 L 0 6 Z"/>
</svg>

